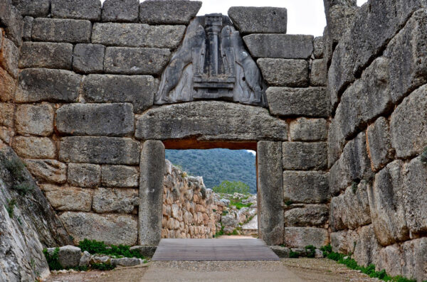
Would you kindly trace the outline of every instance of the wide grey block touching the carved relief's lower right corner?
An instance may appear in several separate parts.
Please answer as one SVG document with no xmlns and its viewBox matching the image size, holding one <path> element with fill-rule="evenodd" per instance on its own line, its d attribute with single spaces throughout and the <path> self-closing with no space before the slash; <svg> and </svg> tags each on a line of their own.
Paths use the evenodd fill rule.
<svg viewBox="0 0 427 282">
<path fill-rule="evenodd" d="M 268 87 L 266 92 L 270 113 L 278 116 L 330 115 L 330 104 L 324 87 Z"/>
</svg>

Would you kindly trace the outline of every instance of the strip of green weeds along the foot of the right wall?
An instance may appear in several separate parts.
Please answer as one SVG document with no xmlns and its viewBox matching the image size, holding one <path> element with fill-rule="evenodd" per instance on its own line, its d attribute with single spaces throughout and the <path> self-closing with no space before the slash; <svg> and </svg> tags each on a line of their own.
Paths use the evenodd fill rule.
<svg viewBox="0 0 427 282">
<path fill-rule="evenodd" d="M 344 264 L 349 269 L 354 269 L 369 275 L 371 278 L 379 278 L 382 281 L 391 281 L 391 282 L 416 282 L 415 279 L 408 279 L 402 276 L 389 276 L 386 271 L 383 269 L 381 271 L 375 271 L 375 265 L 369 264 L 369 266 L 359 266 L 357 261 L 351 258 L 350 255 L 339 254 L 332 251 L 332 246 L 329 244 L 320 248 L 323 251 L 323 254 L 328 258 L 334 261 L 337 261 L 338 264 Z"/>
</svg>

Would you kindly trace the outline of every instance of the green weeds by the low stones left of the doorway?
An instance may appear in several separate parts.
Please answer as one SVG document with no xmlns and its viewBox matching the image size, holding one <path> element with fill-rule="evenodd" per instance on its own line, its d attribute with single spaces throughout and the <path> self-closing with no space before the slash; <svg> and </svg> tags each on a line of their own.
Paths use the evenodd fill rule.
<svg viewBox="0 0 427 282">
<path fill-rule="evenodd" d="M 139 251 L 130 251 L 130 246 L 125 245 L 111 245 L 107 246 L 104 242 L 97 242 L 96 240 L 84 239 L 78 242 L 78 247 L 82 251 L 88 251 L 90 254 L 108 254 L 110 256 L 123 256 L 127 258 L 144 259 L 144 256 L 139 254 Z"/>
</svg>

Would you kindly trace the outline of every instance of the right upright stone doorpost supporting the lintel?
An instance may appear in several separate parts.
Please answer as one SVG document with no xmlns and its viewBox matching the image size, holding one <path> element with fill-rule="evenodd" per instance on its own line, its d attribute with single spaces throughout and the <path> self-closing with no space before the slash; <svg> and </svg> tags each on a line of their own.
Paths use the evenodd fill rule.
<svg viewBox="0 0 427 282">
<path fill-rule="evenodd" d="M 282 143 L 260 141 L 258 158 L 258 229 L 268 245 L 283 244 Z"/>
</svg>

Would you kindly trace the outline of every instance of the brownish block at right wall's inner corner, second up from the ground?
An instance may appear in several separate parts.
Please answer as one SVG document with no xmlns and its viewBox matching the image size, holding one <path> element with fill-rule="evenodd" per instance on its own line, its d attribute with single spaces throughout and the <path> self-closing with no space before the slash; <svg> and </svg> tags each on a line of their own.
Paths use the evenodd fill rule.
<svg viewBox="0 0 427 282">
<path fill-rule="evenodd" d="M 342 229 L 357 229 L 371 223 L 368 190 L 369 183 L 362 180 L 345 190 L 338 197 L 333 197 L 330 203 L 330 226 L 333 231 Z"/>
</svg>

